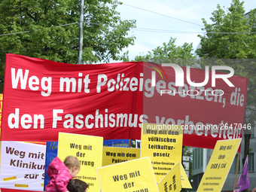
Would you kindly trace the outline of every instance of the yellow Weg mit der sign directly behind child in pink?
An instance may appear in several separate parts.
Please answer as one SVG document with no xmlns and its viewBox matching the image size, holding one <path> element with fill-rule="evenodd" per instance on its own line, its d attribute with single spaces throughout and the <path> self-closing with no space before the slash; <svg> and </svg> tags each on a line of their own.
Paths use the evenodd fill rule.
<svg viewBox="0 0 256 192">
<path fill-rule="evenodd" d="M 81 169 L 76 178 L 90 185 L 90 191 L 99 192 L 96 168 L 102 166 L 103 138 L 71 133 L 59 133 L 58 157 L 64 160 L 68 155 L 78 157 Z"/>
</svg>

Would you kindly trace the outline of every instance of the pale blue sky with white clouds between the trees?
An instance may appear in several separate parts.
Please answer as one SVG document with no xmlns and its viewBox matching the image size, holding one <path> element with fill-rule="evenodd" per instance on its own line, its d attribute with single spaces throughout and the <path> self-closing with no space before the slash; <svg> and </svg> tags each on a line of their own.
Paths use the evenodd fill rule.
<svg viewBox="0 0 256 192">
<path fill-rule="evenodd" d="M 210 17 L 212 17 L 212 12 L 217 10 L 217 5 L 221 5 L 221 8 L 224 7 L 224 11 L 227 11 L 232 3 L 232 0 L 119 1 L 123 2 L 123 5 L 117 7 L 121 20 L 136 20 L 137 28 L 129 32 L 129 36 L 136 37 L 134 45 L 123 49 L 123 52 L 129 50 L 130 60 L 137 55 L 145 55 L 157 46 L 162 46 L 163 42 L 168 43 L 171 37 L 176 38 L 177 46 L 185 42 L 192 43 L 196 50 L 200 44 L 200 38 L 197 35 L 203 35 L 202 18 L 205 18 L 207 23 L 212 23 Z M 245 0 L 243 7 L 247 13 L 256 8 L 256 1 Z"/>
</svg>

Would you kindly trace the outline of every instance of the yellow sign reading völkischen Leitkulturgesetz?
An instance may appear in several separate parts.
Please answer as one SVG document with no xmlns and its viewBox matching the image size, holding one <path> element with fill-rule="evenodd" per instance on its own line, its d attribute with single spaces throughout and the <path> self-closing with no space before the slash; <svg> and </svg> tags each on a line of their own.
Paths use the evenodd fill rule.
<svg viewBox="0 0 256 192">
<path fill-rule="evenodd" d="M 181 162 L 182 134 L 181 126 L 142 123 L 141 157 L 151 157 L 157 182 Z"/>
</svg>

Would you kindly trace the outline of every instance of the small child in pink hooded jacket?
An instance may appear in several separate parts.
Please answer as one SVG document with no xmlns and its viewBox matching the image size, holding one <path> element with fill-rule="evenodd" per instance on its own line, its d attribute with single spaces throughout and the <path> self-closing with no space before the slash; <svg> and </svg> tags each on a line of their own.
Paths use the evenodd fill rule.
<svg viewBox="0 0 256 192">
<path fill-rule="evenodd" d="M 47 174 L 50 181 L 45 186 L 46 192 L 69 192 L 67 185 L 72 178 L 75 178 L 80 171 L 80 161 L 77 157 L 68 156 L 62 162 L 59 157 L 50 162 Z"/>
</svg>

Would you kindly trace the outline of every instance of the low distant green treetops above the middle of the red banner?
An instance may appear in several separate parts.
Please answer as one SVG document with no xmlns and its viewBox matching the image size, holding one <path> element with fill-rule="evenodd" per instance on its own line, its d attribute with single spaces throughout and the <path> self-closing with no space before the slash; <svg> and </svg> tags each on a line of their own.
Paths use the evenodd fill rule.
<svg viewBox="0 0 256 192">
<path fill-rule="evenodd" d="M 163 46 L 158 46 L 152 51 L 148 51 L 146 55 L 139 55 L 135 56 L 133 61 L 155 61 L 159 62 L 159 60 L 166 60 L 166 59 L 190 59 L 195 58 L 193 56 L 192 50 L 193 46 L 192 43 L 184 43 L 182 46 L 175 45 L 176 38 L 170 38 L 169 42 L 163 43 Z M 123 54 L 123 61 L 129 61 L 128 52 Z M 157 60 L 157 61 L 156 61 Z M 160 62 L 159 62 L 160 63 Z"/>
</svg>

